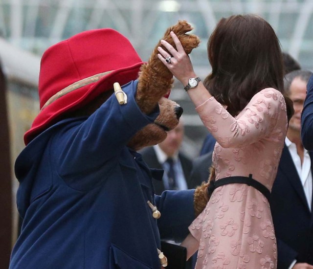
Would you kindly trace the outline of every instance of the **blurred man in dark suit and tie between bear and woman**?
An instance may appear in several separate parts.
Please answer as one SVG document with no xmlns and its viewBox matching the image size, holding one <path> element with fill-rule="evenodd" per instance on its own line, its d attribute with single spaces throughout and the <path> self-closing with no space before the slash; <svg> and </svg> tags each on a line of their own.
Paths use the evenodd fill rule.
<svg viewBox="0 0 313 269">
<path fill-rule="evenodd" d="M 180 119 L 179 125 L 167 133 L 163 142 L 140 151 L 150 168 L 164 169 L 162 181 L 153 179 L 157 195 L 164 190 L 186 190 L 195 187 L 190 180 L 192 161 L 179 151 L 183 136 L 184 125 Z"/>
</svg>

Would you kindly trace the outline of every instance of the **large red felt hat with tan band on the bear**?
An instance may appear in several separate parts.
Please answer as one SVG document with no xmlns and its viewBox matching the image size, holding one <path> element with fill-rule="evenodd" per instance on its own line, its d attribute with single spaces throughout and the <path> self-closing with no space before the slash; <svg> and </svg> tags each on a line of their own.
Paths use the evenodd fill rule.
<svg viewBox="0 0 313 269">
<path fill-rule="evenodd" d="M 89 30 L 49 47 L 39 74 L 40 113 L 24 134 L 27 145 L 65 112 L 137 79 L 143 64 L 129 40 L 113 29 Z"/>
</svg>

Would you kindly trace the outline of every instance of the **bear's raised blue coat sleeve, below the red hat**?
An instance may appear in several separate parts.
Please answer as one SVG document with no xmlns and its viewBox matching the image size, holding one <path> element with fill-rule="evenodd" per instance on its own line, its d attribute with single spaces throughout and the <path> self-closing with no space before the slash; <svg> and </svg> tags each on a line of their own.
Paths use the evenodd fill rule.
<svg viewBox="0 0 313 269">
<path fill-rule="evenodd" d="M 137 82 L 123 86 L 127 104 L 119 105 L 114 94 L 92 115 L 63 128 L 54 137 L 59 173 L 83 173 L 103 166 L 118 156 L 132 136 L 153 123 L 159 109 L 146 115 L 135 101 Z M 55 150 L 56 149 L 56 150 Z"/>
</svg>

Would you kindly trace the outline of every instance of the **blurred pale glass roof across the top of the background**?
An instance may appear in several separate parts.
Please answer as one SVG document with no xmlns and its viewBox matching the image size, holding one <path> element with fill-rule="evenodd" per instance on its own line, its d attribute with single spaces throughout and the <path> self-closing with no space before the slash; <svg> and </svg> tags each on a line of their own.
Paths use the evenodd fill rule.
<svg viewBox="0 0 313 269">
<path fill-rule="evenodd" d="M 273 26 L 284 51 L 312 69 L 312 11 L 312 0 L 1 0 L 0 34 L 41 55 L 73 34 L 110 27 L 128 37 L 146 61 L 165 29 L 187 20 L 202 40 L 192 58 L 204 74 L 210 70 L 206 42 L 216 23 L 232 14 L 255 13 Z"/>
</svg>

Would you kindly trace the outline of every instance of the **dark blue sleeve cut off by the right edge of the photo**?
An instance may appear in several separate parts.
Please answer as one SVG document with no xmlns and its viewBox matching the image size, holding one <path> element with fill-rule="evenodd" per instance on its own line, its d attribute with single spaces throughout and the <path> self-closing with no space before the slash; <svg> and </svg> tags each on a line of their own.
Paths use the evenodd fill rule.
<svg viewBox="0 0 313 269">
<path fill-rule="evenodd" d="M 303 146 L 313 151 L 313 75 L 307 85 L 307 97 L 301 114 L 301 138 Z"/>
</svg>

